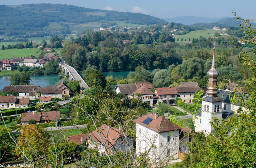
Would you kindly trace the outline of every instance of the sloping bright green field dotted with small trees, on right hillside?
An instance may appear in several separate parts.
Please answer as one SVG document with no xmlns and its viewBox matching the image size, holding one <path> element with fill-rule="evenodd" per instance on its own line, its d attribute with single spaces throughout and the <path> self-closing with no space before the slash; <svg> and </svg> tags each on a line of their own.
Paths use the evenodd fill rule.
<svg viewBox="0 0 256 168">
<path fill-rule="evenodd" d="M 185 39 L 188 39 L 190 38 L 190 40 L 192 40 L 193 38 L 199 38 L 200 36 L 202 37 L 206 37 L 208 38 L 209 36 L 210 37 L 214 37 L 214 32 L 216 31 L 220 31 L 220 30 L 196 30 L 196 31 L 190 31 L 188 32 L 187 34 L 185 35 L 175 35 L 175 42 L 176 43 L 180 43 L 180 44 L 183 44 L 185 43 Z M 210 33 L 209 35 L 207 33 Z M 222 36 L 228 36 L 228 35 L 222 35 Z M 179 38 L 179 41 L 177 41 L 177 39 Z M 181 38 L 183 38 L 183 41 L 181 41 Z"/>
</svg>

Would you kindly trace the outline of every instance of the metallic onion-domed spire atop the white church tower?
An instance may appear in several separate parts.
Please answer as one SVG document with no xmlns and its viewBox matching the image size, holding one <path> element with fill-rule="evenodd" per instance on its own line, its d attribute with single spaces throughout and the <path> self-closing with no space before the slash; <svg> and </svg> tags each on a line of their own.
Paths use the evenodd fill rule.
<svg viewBox="0 0 256 168">
<path fill-rule="evenodd" d="M 215 44 L 213 48 L 213 57 L 212 57 L 212 64 L 211 64 L 211 69 L 207 72 L 207 76 L 209 77 L 208 79 L 208 87 L 206 93 L 208 96 L 217 96 L 219 93 L 218 87 L 217 87 L 217 77 L 219 76 L 219 72 L 216 70 L 215 67 Z"/>
</svg>

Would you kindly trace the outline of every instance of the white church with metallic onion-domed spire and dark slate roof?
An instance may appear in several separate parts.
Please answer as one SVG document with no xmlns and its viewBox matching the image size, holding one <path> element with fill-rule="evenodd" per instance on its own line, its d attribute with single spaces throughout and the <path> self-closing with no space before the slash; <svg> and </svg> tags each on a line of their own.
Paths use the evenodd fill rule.
<svg viewBox="0 0 256 168">
<path fill-rule="evenodd" d="M 227 117 L 237 115 L 239 104 L 231 103 L 229 99 L 230 95 L 239 94 L 244 97 L 250 96 L 247 94 L 218 89 L 217 77 L 219 76 L 219 72 L 216 70 L 215 66 L 215 47 L 213 49 L 212 66 L 207 72 L 207 76 L 209 77 L 207 91 L 203 96 L 204 100 L 202 100 L 202 108 L 199 109 L 200 112 L 196 114 L 197 118 L 195 119 L 195 131 L 204 131 L 206 134 L 214 132 L 210 125 L 210 121 L 213 121 L 214 117 L 221 120 L 221 118 L 227 119 Z M 242 110 L 244 110 L 244 108 L 242 108 Z"/>
</svg>

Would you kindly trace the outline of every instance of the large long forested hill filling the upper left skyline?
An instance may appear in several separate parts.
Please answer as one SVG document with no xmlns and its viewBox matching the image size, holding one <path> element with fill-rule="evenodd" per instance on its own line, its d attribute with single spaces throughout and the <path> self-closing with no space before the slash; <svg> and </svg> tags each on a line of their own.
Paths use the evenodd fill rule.
<svg viewBox="0 0 256 168">
<path fill-rule="evenodd" d="M 26 4 L 0 5 L 0 34 L 8 36 L 26 34 L 28 31 L 43 30 L 48 22 L 102 24 L 111 21 L 124 21 L 130 24 L 166 24 L 167 21 L 150 15 L 90 9 L 73 5 Z"/>
</svg>

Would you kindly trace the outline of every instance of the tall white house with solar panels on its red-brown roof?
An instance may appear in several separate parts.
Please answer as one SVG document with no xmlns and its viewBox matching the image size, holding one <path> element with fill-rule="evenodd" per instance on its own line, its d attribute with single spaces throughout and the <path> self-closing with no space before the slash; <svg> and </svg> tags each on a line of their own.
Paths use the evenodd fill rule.
<svg viewBox="0 0 256 168">
<path fill-rule="evenodd" d="M 179 130 L 181 130 L 178 125 L 163 116 L 158 116 L 157 113 L 148 113 L 135 119 L 134 122 L 137 156 L 148 152 L 149 159 L 156 164 L 178 158 Z"/>
</svg>

